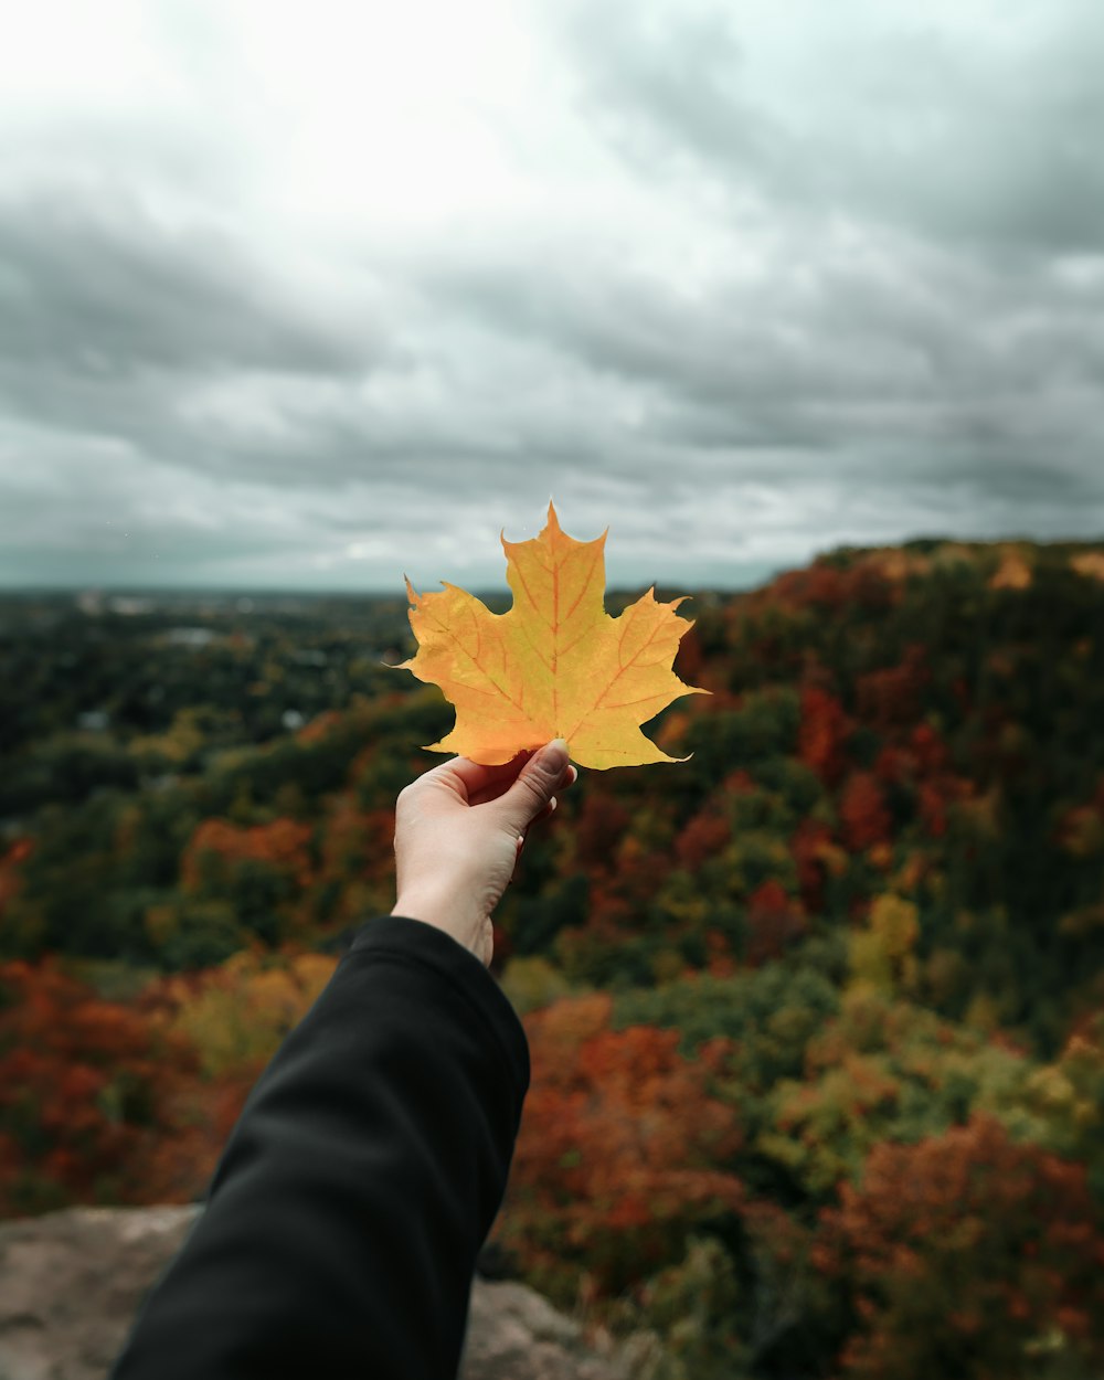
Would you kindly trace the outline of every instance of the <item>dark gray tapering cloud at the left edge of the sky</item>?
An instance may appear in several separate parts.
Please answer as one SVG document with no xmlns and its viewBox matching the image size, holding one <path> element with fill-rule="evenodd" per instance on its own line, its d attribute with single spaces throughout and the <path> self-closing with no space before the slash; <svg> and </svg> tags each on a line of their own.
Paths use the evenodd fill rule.
<svg viewBox="0 0 1104 1380">
<path fill-rule="evenodd" d="M 295 301 L 230 236 L 159 225 L 138 203 L 0 203 L 0 355 L 36 368 L 333 375 L 375 353 L 367 331 Z"/>
</svg>

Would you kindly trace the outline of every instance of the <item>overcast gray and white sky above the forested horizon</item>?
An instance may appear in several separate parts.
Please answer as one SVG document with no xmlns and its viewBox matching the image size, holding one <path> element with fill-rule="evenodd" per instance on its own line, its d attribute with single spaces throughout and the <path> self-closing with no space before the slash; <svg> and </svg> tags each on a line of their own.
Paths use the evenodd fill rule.
<svg viewBox="0 0 1104 1380">
<path fill-rule="evenodd" d="M 0 585 L 1104 535 L 1100 0 L 36 0 Z"/>
</svg>

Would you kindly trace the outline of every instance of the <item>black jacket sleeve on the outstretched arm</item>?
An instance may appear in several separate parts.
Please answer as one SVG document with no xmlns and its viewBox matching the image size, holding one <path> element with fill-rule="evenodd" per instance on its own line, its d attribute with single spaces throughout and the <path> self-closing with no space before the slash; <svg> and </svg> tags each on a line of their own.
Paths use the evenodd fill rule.
<svg viewBox="0 0 1104 1380">
<path fill-rule="evenodd" d="M 527 1086 L 483 965 L 370 920 L 250 1093 L 112 1380 L 454 1380 Z"/>
</svg>

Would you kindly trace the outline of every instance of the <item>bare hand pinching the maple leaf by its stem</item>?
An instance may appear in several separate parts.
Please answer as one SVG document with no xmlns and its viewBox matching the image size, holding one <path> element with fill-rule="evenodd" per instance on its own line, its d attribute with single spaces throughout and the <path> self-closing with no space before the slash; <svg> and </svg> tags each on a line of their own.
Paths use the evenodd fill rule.
<svg viewBox="0 0 1104 1380">
<path fill-rule="evenodd" d="M 577 778 L 567 744 L 553 738 L 500 767 L 451 758 L 411 781 L 395 807 L 399 900 L 391 914 L 435 925 L 490 963 L 491 911 L 513 876 L 526 831 Z"/>
</svg>

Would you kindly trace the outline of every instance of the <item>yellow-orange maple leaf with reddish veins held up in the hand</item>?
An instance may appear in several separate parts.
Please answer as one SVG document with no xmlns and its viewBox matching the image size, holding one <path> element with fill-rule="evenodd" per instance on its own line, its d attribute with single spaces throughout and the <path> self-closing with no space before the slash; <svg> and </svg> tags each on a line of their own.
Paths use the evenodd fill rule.
<svg viewBox="0 0 1104 1380">
<path fill-rule="evenodd" d="M 603 604 L 606 534 L 575 541 L 548 505 L 531 541 L 506 541 L 513 606 L 491 613 L 457 585 L 420 595 L 407 580 L 418 651 L 403 668 L 440 686 L 457 711 L 450 734 L 429 752 L 457 752 L 483 766 L 509 762 L 564 738 L 584 767 L 679 762 L 640 731 L 672 700 L 708 694 L 671 669 L 693 628 L 656 591 L 611 618 Z"/>
</svg>

